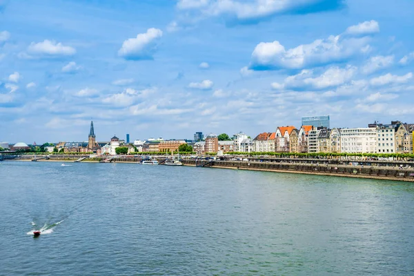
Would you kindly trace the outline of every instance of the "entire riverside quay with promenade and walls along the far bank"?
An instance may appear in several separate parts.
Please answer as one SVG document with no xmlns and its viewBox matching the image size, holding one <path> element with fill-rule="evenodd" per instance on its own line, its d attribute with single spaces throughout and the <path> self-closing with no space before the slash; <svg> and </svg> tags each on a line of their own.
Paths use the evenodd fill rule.
<svg viewBox="0 0 414 276">
<path fill-rule="evenodd" d="M 166 155 L 152 155 L 159 164 Z M 139 163 L 137 155 L 0 155 L 0 160 L 16 161 L 69 161 L 100 163 Z M 184 156 L 184 166 L 204 168 L 227 168 L 236 170 L 258 170 L 266 172 L 288 172 L 305 175 L 326 175 L 414 182 L 414 160 L 384 160 L 370 158 L 294 158 L 294 157 L 248 157 L 228 155 L 224 157 Z"/>
</svg>

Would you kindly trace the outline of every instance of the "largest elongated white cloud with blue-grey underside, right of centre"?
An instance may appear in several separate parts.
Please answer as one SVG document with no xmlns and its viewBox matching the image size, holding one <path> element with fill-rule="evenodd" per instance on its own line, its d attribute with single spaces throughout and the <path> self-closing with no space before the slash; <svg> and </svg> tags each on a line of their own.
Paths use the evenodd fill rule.
<svg viewBox="0 0 414 276">
<path fill-rule="evenodd" d="M 279 41 L 261 42 L 253 50 L 251 68 L 302 69 L 325 63 L 344 61 L 363 53 L 369 37 L 342 38 L 339 35 L 328 39 L 317 39 L 310 44 L 299 45 L 286 50 Z"/>
</svg>

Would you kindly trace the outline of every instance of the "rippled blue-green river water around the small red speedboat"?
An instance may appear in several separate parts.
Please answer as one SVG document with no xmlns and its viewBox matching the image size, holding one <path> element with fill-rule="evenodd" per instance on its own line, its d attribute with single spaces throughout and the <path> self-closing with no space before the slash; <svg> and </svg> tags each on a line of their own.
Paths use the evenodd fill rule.
<svg viewBox="0 0 414 276">
<path fill-rule="evenodd" d="M 0 275 L 414 275 L 413 184 L 66 164 L 0 164 Z"/>
</svg>

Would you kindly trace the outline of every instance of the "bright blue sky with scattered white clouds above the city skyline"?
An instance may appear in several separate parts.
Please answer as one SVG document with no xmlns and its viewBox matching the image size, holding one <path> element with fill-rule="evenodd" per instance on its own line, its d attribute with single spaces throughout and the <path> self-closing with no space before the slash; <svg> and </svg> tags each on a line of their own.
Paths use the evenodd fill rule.
<svg viewBox="0 0 414 276">
<path fill-rule="evenodd" d="M 413 123 L 412 0 L 0 0 L 0 141 Z"/>
</svg>

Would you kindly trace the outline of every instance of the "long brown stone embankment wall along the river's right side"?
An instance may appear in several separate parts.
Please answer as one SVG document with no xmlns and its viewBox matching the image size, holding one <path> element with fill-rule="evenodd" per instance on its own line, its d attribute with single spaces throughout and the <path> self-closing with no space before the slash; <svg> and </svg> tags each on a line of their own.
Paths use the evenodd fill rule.
<svg viewBox="0 0 414 276">
<path fill-rule="evenodd" d="M 184 160 L 187 166 L 206 166 L 211 168 L 233 168 L 239 170 L 263 170 L 274 172 L 294 172 L 312 175 L 333 175 L 340 177 L 360 177 L 372 179 L 402 180 L 414 182 L 414 168 L 348 166 L 319 164 L 288 164 L 257 161 L 204 161 Z"/>
</svg>

